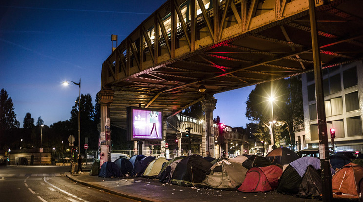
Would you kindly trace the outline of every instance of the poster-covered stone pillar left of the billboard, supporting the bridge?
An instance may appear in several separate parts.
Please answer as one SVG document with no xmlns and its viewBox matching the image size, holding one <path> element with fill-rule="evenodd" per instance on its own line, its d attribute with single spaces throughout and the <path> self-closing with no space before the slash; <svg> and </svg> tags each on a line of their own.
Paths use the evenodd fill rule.
<svg viewBox="0 0 363 202">
<path fill-rule="evenodd" d="M 110 132 L 110 128 L 106 128 L 106 118 L 110 118 L 110 104 L 113 102 L 113 95 L 114 95 L 114 91 L 109 90 L 109 89 L 103 89 L 97 93 L 97 97 L 99 99 L 99 104 L 100 104 L 101 133 Z M 102 152 L 102 147 L 103 147 L 103 149 L 108 147 L 108 149 L 106 149 L 108 151 L 105 151 L 107 154 Z M 107 158 L 104 158 L 103 161 L 111 160 L 110 151 L 111 151 L 111 135 L 110 135 L 109 140 L 107 140 L 107 137 L 106 137 L 106 142 L 101 143 L 101 153 L 103 153 L 104 156 L 107 157 Z M 103 164 L 103 161 L 102 161 L 102 164 Z M 100 159 L 100 166 L 102 166 L 101 159 Z"/>
</svg>

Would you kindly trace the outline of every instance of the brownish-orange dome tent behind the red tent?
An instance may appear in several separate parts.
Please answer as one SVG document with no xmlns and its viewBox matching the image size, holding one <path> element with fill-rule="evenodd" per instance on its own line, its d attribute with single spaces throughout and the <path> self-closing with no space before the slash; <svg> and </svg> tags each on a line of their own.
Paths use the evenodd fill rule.
<svg viewBox="0 0 363 202">
<path fill-rule="evenodd" d="M 274 165 L 279 164 L 283 166 L 297 160 L 299 156 L 291 149 L 280 147 L 268 153 L 266 155 L 266 158 L 270 160 Z"/>
</svg>

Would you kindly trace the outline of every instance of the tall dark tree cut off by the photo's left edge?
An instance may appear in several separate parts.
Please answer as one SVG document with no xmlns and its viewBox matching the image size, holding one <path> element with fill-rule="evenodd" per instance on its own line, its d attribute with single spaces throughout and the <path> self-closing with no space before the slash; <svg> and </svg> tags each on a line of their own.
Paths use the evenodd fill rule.
<svg viewBox="0 0 363 202">
<path fill-rule="evenodd" d="M 19 128 L 19 121 L 14 112 L 14 104 L 11 97 L 8 97 L 6 90 L 1 89 L 0 93 L 0 128 L 1 130 L 10 130 Z"/>
</svg>

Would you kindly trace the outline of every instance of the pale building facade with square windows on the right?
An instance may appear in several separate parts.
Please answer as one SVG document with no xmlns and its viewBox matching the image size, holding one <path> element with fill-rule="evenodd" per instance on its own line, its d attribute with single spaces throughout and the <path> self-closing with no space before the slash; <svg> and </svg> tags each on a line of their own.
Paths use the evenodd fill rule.
<svg viewBox="0 0 363 202">
<path fill-rule="evenodd" d="M 356 61 L 323 69 L 323 89 L 328 133 L 336 130 L 335 151 L 363 152 L 363 65 Z M 318 120 L 314 72 L 302 75 L 305 129 L 295 133 L 298 150 L 318 147 Z M 330 134 L 329 146 L 331 147 Z"/>
</svg>

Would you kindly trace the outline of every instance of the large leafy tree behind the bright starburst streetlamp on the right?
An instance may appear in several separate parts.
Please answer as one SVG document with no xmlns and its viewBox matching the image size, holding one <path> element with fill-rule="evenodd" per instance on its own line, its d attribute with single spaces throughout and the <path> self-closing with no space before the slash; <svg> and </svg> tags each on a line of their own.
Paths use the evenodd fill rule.
<svg viewBox="0 0 363 202">
<path fill-rule="evenodd" d="M 274 97 L 273 102 L 270 102 L 270 97 Z M 246 117 L 260 124 L 260 128 L 264 126 L 272 131 L 270 122 L 274 117 L 277 121 L 274 124 L 275 141 L 279 141 L 283 131 L 286 130 L 290 142 L 294 141 L 293 133 L 304 121 L 302 87 L 299 78 L 291 77 L 258 84 L 249 94 L 246 104 Z M 262 137 L 266 133 L 264 130 L 258 130 L 255 135 Z"/>
</svg>

